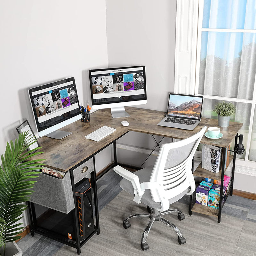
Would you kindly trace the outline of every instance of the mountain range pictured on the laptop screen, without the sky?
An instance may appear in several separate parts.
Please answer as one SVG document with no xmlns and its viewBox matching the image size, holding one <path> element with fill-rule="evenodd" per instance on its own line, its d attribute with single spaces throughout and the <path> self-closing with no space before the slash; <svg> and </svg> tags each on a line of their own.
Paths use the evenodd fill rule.
<svg viewBox="0 0 256 256">
<path fill-rule="evenodd" d="M 169 113 L 175 115 L 187 115 L 187 116 L 200 116 L 202 102 L 191 100 L 185 103 L 175 106 L 174 103 L 169 102 Z M 170 111 L 171 110 L 171 111 Z"/>
</svg>

